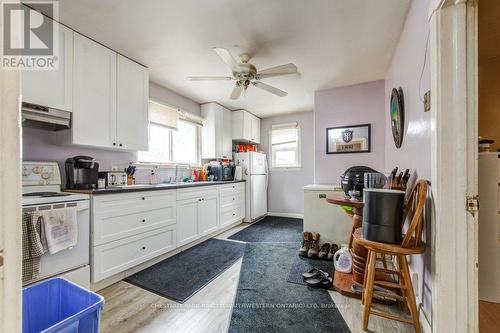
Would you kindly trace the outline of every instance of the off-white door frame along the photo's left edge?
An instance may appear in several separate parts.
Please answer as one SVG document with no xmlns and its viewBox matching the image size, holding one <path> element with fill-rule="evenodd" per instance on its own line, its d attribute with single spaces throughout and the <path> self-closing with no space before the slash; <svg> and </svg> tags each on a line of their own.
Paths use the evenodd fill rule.
<svg viewBox="0 0 500 333">
<path fill-rule="evenodd" d="M 17 1 L 17 0 L 16 0 Z M 0 0 L 0 5 L 5 2 Z M 9 2 L 13 2 L 10 1 Z M 19 38 L 20 29 L 13 32 Z M 3 36 L 3 24 L 0 24 Z M 20 73 L 0 69 L 0 332 L 21 331 Z"/>
</svg>

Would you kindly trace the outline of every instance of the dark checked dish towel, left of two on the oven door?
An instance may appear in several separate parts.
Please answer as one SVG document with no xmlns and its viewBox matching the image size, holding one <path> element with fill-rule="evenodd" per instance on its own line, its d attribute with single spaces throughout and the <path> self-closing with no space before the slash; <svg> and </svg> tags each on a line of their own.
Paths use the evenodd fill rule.
<svg viewBox="0 0 500 333">
<path fill-rule="evenodd" d="M 39 212 L 23 214 L 23 283 L 40 274 L 40 258 L 45 253 L 41 240 L 42 219 Z"/>
</svg>

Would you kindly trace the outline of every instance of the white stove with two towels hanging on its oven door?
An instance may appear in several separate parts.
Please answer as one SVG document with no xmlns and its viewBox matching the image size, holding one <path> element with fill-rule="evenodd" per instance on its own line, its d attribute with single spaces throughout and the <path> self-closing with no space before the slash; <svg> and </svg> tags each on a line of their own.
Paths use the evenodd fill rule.
<svg viewBox="0 0 500 333">
<path fill-rule="evenodd" d="M 23 213 L 76 207 L 77 245 L 55 254 L 46 253 L 40 260 L 40 274 L 27 283 L 62 276 L 85 288 L 90 288 L 89 196 L 61 192 L 61 174 L 56 162 L 23 162 Z"/>
</svg>

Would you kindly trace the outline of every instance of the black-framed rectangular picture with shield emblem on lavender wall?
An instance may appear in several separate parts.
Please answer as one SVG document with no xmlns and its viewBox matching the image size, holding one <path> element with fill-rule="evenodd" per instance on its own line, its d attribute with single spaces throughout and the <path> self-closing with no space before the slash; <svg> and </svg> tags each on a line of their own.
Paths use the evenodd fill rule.
<svg viewBox="0 0 500 333">
<path fill-rule="evenodd" d="M 371 124 L 329 127 L 326 129 L 326 153 L 350 154 L 371 151 Z"/>
</svg>

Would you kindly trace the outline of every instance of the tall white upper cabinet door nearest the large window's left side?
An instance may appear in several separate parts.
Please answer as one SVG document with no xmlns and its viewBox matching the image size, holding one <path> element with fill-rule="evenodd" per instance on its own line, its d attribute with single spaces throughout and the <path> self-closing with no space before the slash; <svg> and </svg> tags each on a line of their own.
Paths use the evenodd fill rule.
<svg viewBox="0 0 500 333">
<path fill-rule="evenodd" d="M 117 56 L 116 143 L 127 150 L 148 150 L 147 69 Z"/>
</svg>

